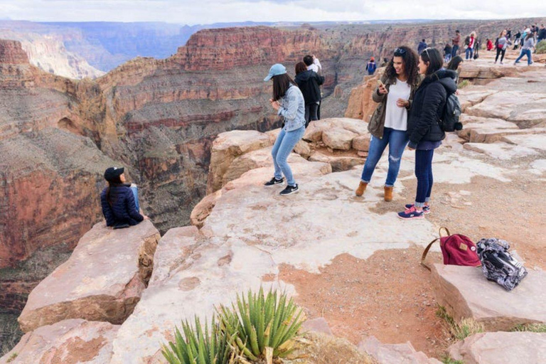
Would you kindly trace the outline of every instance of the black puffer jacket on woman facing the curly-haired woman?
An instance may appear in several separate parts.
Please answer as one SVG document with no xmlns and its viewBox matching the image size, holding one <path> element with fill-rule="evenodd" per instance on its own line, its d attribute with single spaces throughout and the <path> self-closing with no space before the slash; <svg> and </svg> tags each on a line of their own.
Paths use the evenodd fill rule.
<svg viewBox="0 0 546 364">
<path fill-rule="evenodd" d="M 407 136 L 411 148 L 415 148 L 420 141 L 441 141 L 446 137 L 439 120 L 447 96 L 457 90 L 456 77 L 455 71 L 439 70 L 424 77 L 417 88 L 407 117 Z"/>
</svg>

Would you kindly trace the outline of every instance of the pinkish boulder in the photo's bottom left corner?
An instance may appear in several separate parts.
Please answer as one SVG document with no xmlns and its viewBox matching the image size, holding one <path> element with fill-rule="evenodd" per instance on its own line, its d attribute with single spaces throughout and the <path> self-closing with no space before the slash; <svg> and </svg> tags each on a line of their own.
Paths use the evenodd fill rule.
<svg viewBox="0 0 546 364">
<path fill-rule="evenodd" d="M 107 364 L 119 326 L 112 323 L 64 320 L 26 333 L 0 364 Z"/>
</svg>

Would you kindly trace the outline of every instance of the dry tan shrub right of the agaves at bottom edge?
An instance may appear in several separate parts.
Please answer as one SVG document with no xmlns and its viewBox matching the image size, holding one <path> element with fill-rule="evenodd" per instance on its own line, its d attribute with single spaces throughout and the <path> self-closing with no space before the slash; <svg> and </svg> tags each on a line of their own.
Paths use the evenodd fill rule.
<svg viewBox="0 0 546 364">
<path fill-rule="evenodd" d="M 286 364 L 377 364 L 365 353 L 344 338 L 323 333 L 306 333 L 299 339 L 300 347 L 294 359 L 284 360 Z"/>
</svg>

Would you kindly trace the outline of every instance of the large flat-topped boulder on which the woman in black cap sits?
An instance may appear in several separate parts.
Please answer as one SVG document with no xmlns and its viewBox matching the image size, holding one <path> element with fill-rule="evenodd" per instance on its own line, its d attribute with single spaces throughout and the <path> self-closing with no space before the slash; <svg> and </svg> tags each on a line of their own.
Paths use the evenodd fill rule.
<svg viewBox="0 0 546 364">
<path fill-rule="evenodd" d="M 21 330 L 66 319 L 122 323 L 148 284 L 158 240 L 150 220 L 118 230 L 97 223 L 28 296 Z"/>
</svg>

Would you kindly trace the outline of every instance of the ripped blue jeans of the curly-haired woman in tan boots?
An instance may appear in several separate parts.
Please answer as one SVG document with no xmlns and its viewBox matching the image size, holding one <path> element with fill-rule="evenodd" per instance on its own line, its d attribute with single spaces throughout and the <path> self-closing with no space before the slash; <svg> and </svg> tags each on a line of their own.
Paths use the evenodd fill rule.
<svg viewBox="0 0 546 364">
<path fill-rule="evenodd" d="M 383 128 L 382 139 L 372 136 L 370 139 L 368 158 L 366 158 L 366 163 L 364 164 L 364 169 L 362 171 L 362 177 L 360 179 L 362 179 L 362 181 L 365 183 L 370 183 L 375 166 L 378 165 L 383 151 L 385 151 L 388 144 L 389 171 L 387 172 L 387 181 L 385 181 L 385 186 L 395 186 L 396 178 L 398 176 L 398 172 L 400 171 L 400 160 L 402 159 L 402 153 L 404 153 L 404 149 L 406 148 L 408 141 L 409 139 L 406 136 L 406 132 L 390 128 Z"/>
</svg>

